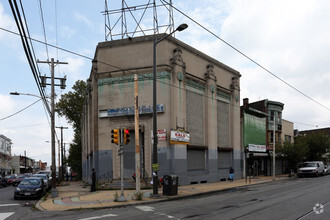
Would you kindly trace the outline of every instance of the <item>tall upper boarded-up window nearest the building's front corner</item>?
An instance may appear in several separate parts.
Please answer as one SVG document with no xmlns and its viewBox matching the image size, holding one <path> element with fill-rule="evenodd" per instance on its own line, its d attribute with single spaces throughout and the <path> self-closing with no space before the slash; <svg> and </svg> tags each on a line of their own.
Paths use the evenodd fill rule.
<svg viewBox="0 0 330 220">
<path fill-rule="evenodd" d="M 187 131 L 190 144 L 204 145 L 204 96 L 187 90 Z"/>
</svg>

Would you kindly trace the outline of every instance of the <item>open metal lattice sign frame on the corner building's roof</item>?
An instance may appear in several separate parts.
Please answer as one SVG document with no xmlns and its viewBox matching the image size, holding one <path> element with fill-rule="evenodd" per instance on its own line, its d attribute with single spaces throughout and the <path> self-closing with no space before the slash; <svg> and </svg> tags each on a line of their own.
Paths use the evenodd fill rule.
<svg viewBox="0 0 330 220">
<path fill-rule="evenodd" d="M 109 7 L 108 1 L 113 7 Z M 119 9 L 115 8 L 115 2 L 118 0 L 105 0 L 105 10 L 101 12 L 105 41 L 174 31 L 172 0 L 122 0 Z M 158 15 L 168 15 L 168 19 L 158 19 Z"/>
</svg>

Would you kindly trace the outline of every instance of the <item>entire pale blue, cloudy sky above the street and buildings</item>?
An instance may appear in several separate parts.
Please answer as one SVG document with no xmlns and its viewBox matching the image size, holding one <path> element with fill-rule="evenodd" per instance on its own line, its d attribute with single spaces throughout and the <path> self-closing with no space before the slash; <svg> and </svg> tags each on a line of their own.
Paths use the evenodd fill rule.
<svg viewBox="0 0 330 220">
<path fill-rule="evenodd" d="M 146 2 L 126 0 L 129 6 Z M 282 118 L 293 122 L 294 129 L 330 127 L 329 1 L 172 2 L 175 26 L 181 23 L 189 26 L 176 33 L 175 37 L 240 72 L 241 104 L 243 98 L 249 98 L 250 102 L 263 99 L 282 102 Z M 108 8 L 119 9 L 121 3 L 120 0 L 108 0 Z M 46 38 L 51 45 L 88 58 L 93 58 L 98 42 L 105 41 L 105 18 L 101 13 L 105 10 L 103 0 L 22 0 L 22 4 L 30 35 L 34 39 L 45 42 Z M 167 15 L 159 10 L 158 20 L 167 21 Z M 111 19 L 115 21 L 115 16 Z M 141 26 L 151 27 L 152 19 L 146 16 Z M 128 26 L 135 27 L 129 23 Z M 16 91 L 39 95 L 39 91 L 20 37 L 5 31 L 18 32 L 7 1 L 0 2 L 0 28 L 0 134 L 12 140 L 12 155 L 24 155 L 26 152 L 28 157 L 50 165 L 50 119 L 42 102 L 19 112 L 39 98 L 10 95 L 10 92 Z M 66 89 L 56 88 L 57 100 L 61 94 L 69 92 L 77 80 L 87 80 L 89 77 L 90 59 L 53 47 L 46 48 L 37 42 L 33 42 L 33 48 L 39 60 L 54 58 L 69 63 L 55 68 L 56 77 L 67 76 Z M 50 75 L 48 65 L 39 64 L 38 67 L 41 75 Z M 50 88 L 46 88 L 46 94 L 50 95 Z M 73 139 L 71 125 L 65 118 L 56 117 L 55 120 L 57 127 L 69 127 L 63 130 L 63 140 L 68 149 Z M 56 130 L 60 139 L 60 129 Z"/>
</svg>

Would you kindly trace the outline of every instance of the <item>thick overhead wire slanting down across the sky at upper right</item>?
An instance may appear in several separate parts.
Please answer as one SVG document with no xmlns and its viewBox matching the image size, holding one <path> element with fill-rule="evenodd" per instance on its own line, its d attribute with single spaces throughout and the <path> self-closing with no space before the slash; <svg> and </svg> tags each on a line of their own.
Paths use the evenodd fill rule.
<svg viewBox="0 0 330 220">
<path fill-rule="evenodd" d="M 165 0 L 161 0 L 164 1 L 165 3 L 168 4 L 167 1 Z M 285 80 L 281 79 L 279 76 L 277 76 L 275 73 L 271 72 L 270 70 L 268 70 L 266 67 L 262 66 L 261 64 L 259 64 L 257 61 L 253 60 L 252 58 L 250 58 L 248 55 L 246 55 L 245 53 L 243 53 L 242 51 L 240 51 L 239 49 L 237 49 L 236 47 L 234 47 L 233 45 L 231 45 L 230 43 L 228 43 L 227 41 L 223 40 L 222 38 L 220 38 L 218 35 L 216 35 L 215 33 L 213 33 L 212 31 L 210 31 L 209 29 L 207 29 L 206 27 L 204 27 L 202 24 L 200 24 L 199 22 L 197 22 L 196 20 L 194 20 L 193 18 L 191 18 L 189 15 L 185 14 L 184 12 L 182 12 L 180 9 L 176 8 L 175 6 L 172 5 L 172 7 L 178 11 L 179 13 L 181 13 L 182 15 L 184 15 L 185 17 L 187 17 L 189 20 L 191 20 L 192 22 L 194 22 L 195 24 L 197 24 L 199 27 L 201 27 L 202 29 L 204 29 L 205 31 L 207 31 L 208 33 L 210 33 L 211 35 L 213 35 L 214 37 L 216 37 L 217 39 L 221 40 L 223 43 L 225 43 L 227 46 L 229 46 L 230 48 L 232 48 L 233 50 L 235 50 L 236 52 L 238 52 L 239 54 L 241 54 L 242 56 L 244 56 L 245 58 L 247 58 L 248 60 L 250 60 L 252 63 L 256 64 L 257 66 L 259 66 L 261 69 L 263 69 L 264 71 L 266 71 L 267 73 L 271 74 L 273 77 L 275 77 L 276 79 L 280 80 L 281 82 L 283 82 L 284 84 L 286 84 L 287 86 L 289 86 L 290 88 L 292 88 L 293 90 L 297 91 L 298 93 L 300 93 L 301 95 L 305 96 L 306 98 L 312 100 L 313 102 L 315 102 L 316 104 L 322 106 L 323 108 L 330 110 L 330 108 L 328 108 L 327 106 L 321 104 L 320 102 L 318 102 L 317 100 L 313 99 L 312 97 L 310 97 L 309 95 L 305 94 L 304 92 L 300 91 L 299 89 L 295 88 L 294 86 L 292 86 L 291 84 L 289 84 L 288 82 L 286 82 Z"/>
</svg>

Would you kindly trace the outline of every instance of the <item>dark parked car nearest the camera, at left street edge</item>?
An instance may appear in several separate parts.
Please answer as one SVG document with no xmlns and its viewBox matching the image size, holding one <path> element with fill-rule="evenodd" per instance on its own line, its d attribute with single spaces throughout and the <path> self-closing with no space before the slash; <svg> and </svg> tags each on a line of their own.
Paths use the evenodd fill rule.
<svg viewBox="0 0 330 220">
<path fill-rule="evenodd" d="M 39 177 L 27 177 L 16 187 L 14 199 L 41 198 L 44 194 L 44 180 Z"/>
</svg>

